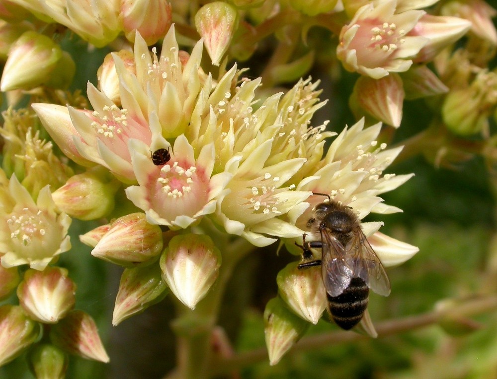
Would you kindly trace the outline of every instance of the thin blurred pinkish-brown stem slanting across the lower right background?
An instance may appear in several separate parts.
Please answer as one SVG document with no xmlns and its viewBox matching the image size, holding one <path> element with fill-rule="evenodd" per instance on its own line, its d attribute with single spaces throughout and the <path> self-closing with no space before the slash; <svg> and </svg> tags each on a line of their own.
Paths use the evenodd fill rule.
<svg viewBox="0 0 497 379">
<path fill-rule="evenodd" d="M 417 316 L 383 321 L 378 323 L 375 328 L 378 332 L 378 338 L 381 338 L 433 325 L 447 318 L 475 316 L 493 311 L 495 309 L 497 309 L 497 296 L 493 295 L 468 300 L 446 310 L 427 312 Z M 339 343 L 366 340 L 368 338 L 369 337 L 362 334 L 351 333 L 349 331 L 334 331 L 302 338 L 295 346 L 293 346 L 291 353 L 296 353 L 298 351 L 309 351 L 310 349 L 318 349 Z M 267 359 L 266 348 L 254 349 L 248 352 L 233 355 L 227 359 L 220 359 L 211 366 L 211 370 L 214 375 L 222 375 Z"/>
</svg>

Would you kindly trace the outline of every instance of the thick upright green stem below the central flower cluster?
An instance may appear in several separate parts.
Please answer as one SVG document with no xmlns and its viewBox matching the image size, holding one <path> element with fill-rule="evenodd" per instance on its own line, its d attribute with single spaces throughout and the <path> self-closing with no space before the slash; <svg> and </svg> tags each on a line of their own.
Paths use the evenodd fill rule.
<svg viewBox="0 0 497 379">
<path fill-rule="evenodd" d="M 227 239 L 213 238 L 223 252 L 223 261 L 219 276 L 194 310 L 190 310 L 178 302 L 178 317 L 172 322 L 177 336 L 177 368 L 171 377 L 182 379 L 209 378 L 212 349 L 211 336 L 216 325 L 221 300 L 226 283 L 235 265 L 247 253 L 254 249 L 246 240 L 238 239 L 230 242 Z M 219 246 L 223 243 L 225 247 Z"/>
</svg>

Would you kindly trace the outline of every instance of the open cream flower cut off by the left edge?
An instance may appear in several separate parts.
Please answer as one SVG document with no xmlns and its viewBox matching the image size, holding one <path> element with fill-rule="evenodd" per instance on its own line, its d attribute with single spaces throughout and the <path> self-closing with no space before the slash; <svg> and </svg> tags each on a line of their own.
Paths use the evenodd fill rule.
<svg viewBox="0 0 497 379">
<path fill-rule="evenodd" d="M 15 176 L 0 195 L 0 254 L 3 267 L 29 264 L 43 270 L 54 257 L 71 248 L 67 231 L 71 219 L 57 214 L 49 186 L 36 203 Z"/>
</svg>

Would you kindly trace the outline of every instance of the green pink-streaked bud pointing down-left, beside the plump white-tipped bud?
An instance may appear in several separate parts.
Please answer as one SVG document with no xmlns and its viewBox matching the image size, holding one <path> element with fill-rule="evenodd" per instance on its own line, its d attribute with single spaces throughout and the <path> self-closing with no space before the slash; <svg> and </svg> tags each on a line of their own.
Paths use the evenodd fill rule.
<svg viewBox="0 0 497 379">
<path fill-rule="evenodd" d="M 164 299 L 167 292 L 158 264 L 126 268 L 119 282 L 112 324 L 145 311 Z"/>
</svg>

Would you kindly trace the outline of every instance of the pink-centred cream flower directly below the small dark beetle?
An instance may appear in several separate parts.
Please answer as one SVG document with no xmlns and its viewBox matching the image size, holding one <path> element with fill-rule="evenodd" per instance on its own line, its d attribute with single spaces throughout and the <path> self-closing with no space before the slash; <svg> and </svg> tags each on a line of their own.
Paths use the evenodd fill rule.
<svg viewBox="0 0 497 379">
<path fill-rule="evenodd" d="M 186 137 L 180 135 L 170 151 L 171 159 L 162 166 L 152 162 L 144 143 L 135 140 L 131 146 L 139 186 L 128 187 L 126 195 L 145 211 L 151 224 L 187 228 L 215 211 L 232 175 L 227 172 L 212 175 L 215 156 L 212 144 L 195 152 Z"/>
</svg>

